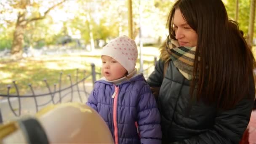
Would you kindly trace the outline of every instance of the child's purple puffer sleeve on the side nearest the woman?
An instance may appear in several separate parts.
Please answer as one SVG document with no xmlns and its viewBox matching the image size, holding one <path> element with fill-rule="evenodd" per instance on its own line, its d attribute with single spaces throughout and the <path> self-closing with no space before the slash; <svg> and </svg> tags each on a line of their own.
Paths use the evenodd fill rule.
<svg viewBox="0 0 256 144">
<path fill-rule="evenodd" d="M 149 85 L 141 88 L 138 101 L 138 124 L 141 144 L 161 144 L 160 113 Z"/>
</svg>

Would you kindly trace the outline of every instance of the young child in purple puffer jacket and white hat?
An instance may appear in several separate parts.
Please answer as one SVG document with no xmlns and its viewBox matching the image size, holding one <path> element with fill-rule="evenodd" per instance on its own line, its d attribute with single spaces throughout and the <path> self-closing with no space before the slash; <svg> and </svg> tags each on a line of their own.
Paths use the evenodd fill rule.
<svg viewBox="0 0 256 144">
<path fill-rule="evenodd" d="M 104 77 L 95 82 L 86 104 L 107 123 L 115 144 L 161 144 L 160 114 L 143 74 L 137 73 L 137 57 L 136 43 L 127 36 L 104 46 Z"/>
</svg>

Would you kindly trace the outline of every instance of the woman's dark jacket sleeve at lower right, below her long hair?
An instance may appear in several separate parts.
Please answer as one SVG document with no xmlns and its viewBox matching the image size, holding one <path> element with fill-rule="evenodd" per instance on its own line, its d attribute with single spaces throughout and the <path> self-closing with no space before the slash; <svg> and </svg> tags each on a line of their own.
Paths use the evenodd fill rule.
<svg viewBox="0 0 256 144">
<path fill-rule="evenodd" d="M 233 109 L 218 110 L 211 130 L 171 144 L 239 144 L 254 104 L 255 87 L 253 79 L 250 80 L 248 98 L 242 99 Z"/>
</svg>

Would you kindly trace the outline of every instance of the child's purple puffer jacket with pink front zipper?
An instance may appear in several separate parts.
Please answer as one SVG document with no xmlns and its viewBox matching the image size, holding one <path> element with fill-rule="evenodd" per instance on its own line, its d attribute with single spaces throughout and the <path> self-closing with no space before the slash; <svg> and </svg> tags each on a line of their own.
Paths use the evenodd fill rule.
<svg viewBox="0 0 256 144">
<path fill-rule="evenodd" d="M 86 104 L 107 123 L 115 144 L 161 144 L 160 114 L 142 74 L 118 85 L 96 81 Z"/>
</svg>

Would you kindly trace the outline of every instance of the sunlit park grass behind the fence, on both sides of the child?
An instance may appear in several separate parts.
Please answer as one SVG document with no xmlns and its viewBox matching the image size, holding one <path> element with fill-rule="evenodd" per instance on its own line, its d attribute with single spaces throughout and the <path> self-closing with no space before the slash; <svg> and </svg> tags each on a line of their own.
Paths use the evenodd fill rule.
<svg viewBox="0 0 256 144">
<path fill-rule="evenodd" d="M 149 55 L 147 55 L 149 56 Z M 144 59 L 144 64 L 153 64 L 153 56 L 151 60 Z M 54 55 L 41 56 L 40 58 L 26 58 L 19 61 L 7 62 L 7 59 L 1 59 L 0 62 L 0 94 L 7 94 L 7 86 L 11 85 L 10 94 L 16 94 L 16 89 L 13 85 L 13 80 L 18 85 L 19 95 L 24 95 L 30 92 L 29 84 L 32 85 L 36 91 L 45 91 L 47 83 L 53 88 L 59 86 L 60 73 L 62 72 L 61 88 L 64 85 L 70 85 L 68 75 L 71 75 L 72 83 L 75 83 L 76 73 L 78 69 L 78 80 L 83 79 L 84 70 L 85 77 L 91 75 L 91 63 L 96 65 L 96 72 L 100 72 L 101 60 L 100 56 L 94 55 Z M 139 59 L 137 61 L 139 65 Z M 100 78 L 97 75 L 96 79 Z M 88 77 L 85 82 L 92 83 L 92 77 Z M 47 91 L 47 90 L 46 90 Z"/>
</svg>

